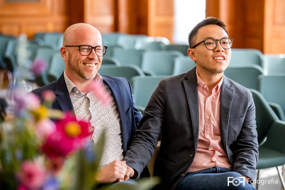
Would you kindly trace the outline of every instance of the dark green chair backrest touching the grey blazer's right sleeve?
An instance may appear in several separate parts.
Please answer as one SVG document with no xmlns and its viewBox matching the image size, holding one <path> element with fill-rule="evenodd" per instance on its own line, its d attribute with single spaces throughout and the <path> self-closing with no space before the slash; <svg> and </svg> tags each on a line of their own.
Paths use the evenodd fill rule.
<svg viewBox="0 0 285 190">
<path fill-rule="evenodd" d="M 278 120 L 278 117 L 268 105 L 264 97 L 260 94 L 260 92 L 254 89 L 250 89 L 250 91 L 252 93 L 253 101 L 255 104 L 255 120 L 258 134 L 257 140 L 258 144 L 260 144 L 266 137 L 271 124 L 275 120 Z"/>
</svg>

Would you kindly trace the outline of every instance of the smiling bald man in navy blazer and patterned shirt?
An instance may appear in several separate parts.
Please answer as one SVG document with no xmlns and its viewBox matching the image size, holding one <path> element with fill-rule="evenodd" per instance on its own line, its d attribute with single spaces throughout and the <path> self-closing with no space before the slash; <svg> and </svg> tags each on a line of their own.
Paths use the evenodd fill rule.
<svg viewBox="0 0 285 190">
<path fill-rule="evenodd" d="M 58 80 L 32 91 L 39 97 L 46 90 L 53 91 L 53 109 L 74 111 L 77 120 L 88 122 L 92 136 L 84 140 L 87 146 L 93 146 L 105 131 L 105 147 L 96 176 L 102 184 L 124 180 L 128 166 L 123 158 L 142 118 L 129 81 L 98 73 L 106 49 L 95 27 L 85 23 L 68 27 L 60 48 L 64 72 Z M 102 84 L 111 97 L 107 106 L 90 91 L 94 81 Z"/>
</svg>

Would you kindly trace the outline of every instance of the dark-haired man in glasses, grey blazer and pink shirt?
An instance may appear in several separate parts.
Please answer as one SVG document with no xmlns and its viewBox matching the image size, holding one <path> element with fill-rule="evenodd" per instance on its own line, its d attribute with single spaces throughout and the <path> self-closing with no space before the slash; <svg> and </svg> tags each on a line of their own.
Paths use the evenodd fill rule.
<svg viewBox="0 0 285 190">
<path fill-rule="evenodd" d="M 139 177 L 161 135 L 154 175 L 157 189 L 254 189 L 258 142 L 249 89 L 223 73 L 233 39 L 208 17 L 188 36 L 196 67 L 163 79 L 152 94 L 124 160 Z"/>
</svg>

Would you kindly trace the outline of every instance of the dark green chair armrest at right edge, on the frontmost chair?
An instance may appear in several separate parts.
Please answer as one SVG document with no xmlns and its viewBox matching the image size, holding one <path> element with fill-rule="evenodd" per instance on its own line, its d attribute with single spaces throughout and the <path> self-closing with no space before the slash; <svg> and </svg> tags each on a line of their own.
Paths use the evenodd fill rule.
<svg viewBox="0 0 285 190">
<path fill-rule="evenodd" d="M 285 153 L 285 121 L 276 120 L 267 133 L 267 139 L 262 146 Z"/>
</svg>

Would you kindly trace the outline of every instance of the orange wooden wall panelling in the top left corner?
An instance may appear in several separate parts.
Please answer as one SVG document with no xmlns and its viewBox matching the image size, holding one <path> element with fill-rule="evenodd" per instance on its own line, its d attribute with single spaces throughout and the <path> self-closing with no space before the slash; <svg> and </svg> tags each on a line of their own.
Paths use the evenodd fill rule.
<svg viewBox="0 0 285 190">
<path fill-rule="evenodd" d="M 36 32 L 63 32 L 68 23 L 67 0 L 38 2 L 6 2 L 0 0 L 0 32 L 18 36 Z"/>
</svg>

